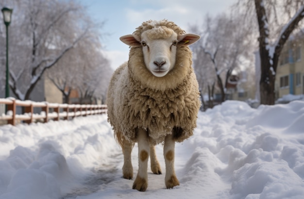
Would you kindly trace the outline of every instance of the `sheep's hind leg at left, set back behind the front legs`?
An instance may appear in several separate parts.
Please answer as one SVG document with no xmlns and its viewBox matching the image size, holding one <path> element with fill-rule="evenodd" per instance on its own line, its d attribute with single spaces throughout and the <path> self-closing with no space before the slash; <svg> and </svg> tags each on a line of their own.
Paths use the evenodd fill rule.
<svg viewBox="0 0 304 199">
<path fill-rule="evenodd" d="M 123 166 L 122 175 L 123 178 L 131 180 L 133 178 L 133 166 L 131 161 L 131 152 L 133 144 L 128 140 L 123 140 L 122 152 L 123 152 Z"/>
</svg>

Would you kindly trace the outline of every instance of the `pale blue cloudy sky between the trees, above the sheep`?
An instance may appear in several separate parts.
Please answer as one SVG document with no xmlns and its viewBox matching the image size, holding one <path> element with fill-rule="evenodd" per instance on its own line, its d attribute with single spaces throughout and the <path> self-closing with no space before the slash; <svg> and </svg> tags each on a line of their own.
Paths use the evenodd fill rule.
<svg viewBox="0 0 304 199">
<path fill-rule="evenodd" d="M 119 37 L 131 34 L 143 21 L 168 19 L 187 33 L 189 25 L 203 24 L 206 14 L 225 12 L 236 0 L 79 0 L 96 22 L 105 21 L 101 32 L 105 56 L 117 68 L 128 59 L 129 47 Z"/>
</svg>

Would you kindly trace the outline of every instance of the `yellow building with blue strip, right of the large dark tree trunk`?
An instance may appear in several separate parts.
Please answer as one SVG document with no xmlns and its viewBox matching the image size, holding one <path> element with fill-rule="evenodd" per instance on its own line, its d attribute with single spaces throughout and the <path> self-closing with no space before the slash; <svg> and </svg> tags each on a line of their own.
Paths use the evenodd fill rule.
<svg viewBox="0 0 304 199">
<path fill-rule="evenodd" d="M 281 52 L 275 80 L 276 97 L 304 94 L 304 39 L 289 39 Z"/>
</svg>

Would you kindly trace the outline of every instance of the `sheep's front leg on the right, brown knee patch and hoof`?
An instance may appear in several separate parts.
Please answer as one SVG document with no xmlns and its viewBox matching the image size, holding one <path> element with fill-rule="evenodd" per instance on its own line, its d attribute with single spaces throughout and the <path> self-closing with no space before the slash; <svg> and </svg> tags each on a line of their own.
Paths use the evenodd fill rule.
<svg viewBox="0 0 304 199">
<path fill-rule="evenodd" d="M 164 143 L 164 156 L 166 163 L 165 183 L 167 189 L 180 185 L 174 171 L 174 147 L 175 142 L 173 140 L 173 135 L 167 135 Z"/>
</svg>

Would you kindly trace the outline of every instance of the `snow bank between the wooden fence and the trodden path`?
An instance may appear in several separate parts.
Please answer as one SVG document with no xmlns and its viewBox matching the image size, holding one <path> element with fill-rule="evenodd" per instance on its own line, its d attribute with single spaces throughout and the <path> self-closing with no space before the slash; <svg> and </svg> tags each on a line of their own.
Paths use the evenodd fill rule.
<svg viewBox="0 0 304 199">
<path fill-rule="evenodd" d="M 0 199 L 58 199 L 117 149 L 106 115 L 1 126 Z"/>
</svg>

